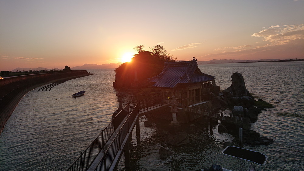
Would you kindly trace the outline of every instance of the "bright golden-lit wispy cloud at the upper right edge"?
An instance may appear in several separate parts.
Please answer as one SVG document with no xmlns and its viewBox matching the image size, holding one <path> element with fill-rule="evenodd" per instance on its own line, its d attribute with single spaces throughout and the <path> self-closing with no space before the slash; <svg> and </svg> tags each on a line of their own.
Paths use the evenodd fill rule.
<svg viewBox="0 0 304 171">
<path fill-rule="evenodd" d="M 262 37 L 264 41 L 272 45 L 286 44 L 293 40 L 304 39 L 304 24 L 271 26 L 251 36 Z"/>
</svg>

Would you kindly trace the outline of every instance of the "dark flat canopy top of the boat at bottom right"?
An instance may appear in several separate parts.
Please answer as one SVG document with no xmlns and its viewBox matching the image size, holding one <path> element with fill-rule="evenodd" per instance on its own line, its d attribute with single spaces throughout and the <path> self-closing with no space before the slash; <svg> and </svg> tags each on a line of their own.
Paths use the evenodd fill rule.
<svg viewBox="0 0 304 171">
<path fill-rule="evenodd" d="M 256 151 L 247 150 L 235 146 L 228 146 L 224 149 L 223 154 L 228 156 L 244 159 L 250 162 L 257 163 L 258 165 L 265 165 L 267 156 Z"/>
</svg>

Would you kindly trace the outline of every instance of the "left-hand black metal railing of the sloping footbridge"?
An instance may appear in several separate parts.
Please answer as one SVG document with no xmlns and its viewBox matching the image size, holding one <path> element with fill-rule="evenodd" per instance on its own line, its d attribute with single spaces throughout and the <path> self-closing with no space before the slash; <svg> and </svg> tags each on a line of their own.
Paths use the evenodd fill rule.
<svg viewBox="0 0 304 171">
<path fill-rule="evenodd" d="M 97 138 L 80 153 L 80 156 L 75 162 L 67 169 L 67 171 L 84 171 L 87 170 L 92 162 L 95 160 L 101 150 L 104 149 L 105 144 L 109 141 L 111 136 L 115 133 L 118 125 L 129 114 L 129 105 L 127 104 L 115 118 L 105 127 L 104 130 L 97 136 Z"/>
</svg>

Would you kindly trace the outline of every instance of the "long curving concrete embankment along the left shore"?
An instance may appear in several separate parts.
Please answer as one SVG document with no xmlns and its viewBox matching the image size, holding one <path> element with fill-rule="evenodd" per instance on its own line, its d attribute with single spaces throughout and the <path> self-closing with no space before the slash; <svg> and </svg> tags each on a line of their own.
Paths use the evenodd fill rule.
<svg viewBox="0 0 304 171">
<path fill-rule="evenodd" d="M 86 70 L 23 75 L 0 80 L 0 134 L 10 115 L 26 93 L 44 84 L 85 77 Z"/>
</svg>

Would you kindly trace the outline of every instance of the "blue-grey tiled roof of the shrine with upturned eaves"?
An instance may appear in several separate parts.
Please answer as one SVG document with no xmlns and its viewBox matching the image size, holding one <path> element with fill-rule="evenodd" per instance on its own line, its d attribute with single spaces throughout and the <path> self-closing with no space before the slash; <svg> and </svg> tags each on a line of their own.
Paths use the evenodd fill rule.
<svg viewBox="0 0 304 171">
<path fill-rule="evenodd" d="M 166 62 L 161 74 L 149 78 L 153 87 L 176 87 L 178 83 L 199 83 L 214 80 L 214 76 L 199 70 L 196 60 Z"/>
</svg>

